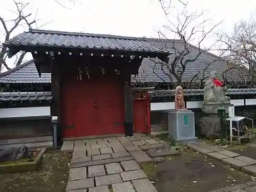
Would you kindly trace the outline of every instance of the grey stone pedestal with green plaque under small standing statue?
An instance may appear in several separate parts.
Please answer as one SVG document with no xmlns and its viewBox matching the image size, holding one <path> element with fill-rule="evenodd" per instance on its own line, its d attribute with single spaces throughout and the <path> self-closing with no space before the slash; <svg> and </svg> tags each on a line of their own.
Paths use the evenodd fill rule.
<svg viewBox="0 0 256 192">
<path fill-rule="evenodd" d="M 168 112 L 169 136 L 177 142 L 197 140 L 195 136 L 195 117 L 190 110 L 172 110 Z"/>
</svg>

